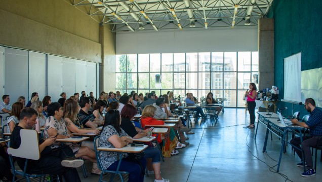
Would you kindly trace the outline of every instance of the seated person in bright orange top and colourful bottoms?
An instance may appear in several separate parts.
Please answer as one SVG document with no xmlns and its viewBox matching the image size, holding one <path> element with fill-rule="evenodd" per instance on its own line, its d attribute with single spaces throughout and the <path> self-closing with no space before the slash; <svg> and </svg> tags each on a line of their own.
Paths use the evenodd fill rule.
<svg viewBox="0 0 322 182">
<path fill-rule="evenodd" d="M 141 116 L 142 128 L 144 128 L 145 125 L 164 125 L 165 124 L 164 121 L 153 118 L 155 114 L 155 110 L 156 108 L 153 105 L 147 105 L 144 107 L 144 110 Z M 152 136 L 156 136 L 156 134 L 152 134 Z M 175 148 L 177 148 L 177 145 L 179 145 L 179 141 L 172 127 L 169 127 L 166 137 L 161 136 L 161 134 L 159 134 L 156 138 L 157 142 L 161 143 L 162 138 L 165 139 L 165 145 L 162 147 L 163 156 L 170 157 L 171 155 L 179 154 L 179 151 L 175 150 Z M 160 144 L 160 145 L 163 145 L 163 144 Z M 185 146 L 184 144 L 181 144 L 181 143 L 180 145 L 181 146 L 179 148 L 182 148 L 183 146 Z"/>
</svg>

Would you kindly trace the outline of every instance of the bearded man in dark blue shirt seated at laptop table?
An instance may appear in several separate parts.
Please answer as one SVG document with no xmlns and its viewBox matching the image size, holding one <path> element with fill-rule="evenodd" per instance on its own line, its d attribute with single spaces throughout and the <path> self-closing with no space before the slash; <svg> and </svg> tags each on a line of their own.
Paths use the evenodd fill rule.
<svg viewBox="0 0 322 182">
<path fill-rule="evenodd" d="M 315 175 L 315 170 L 313 167 L 313 160 L 311 155 L 311 147 L 316 147 L 317 144 L 322 145 L 322 142 L 318 143 L 319 138 L 322 137 L 322 111 L 315 107 L 315 101 L 312 98 L 305 99 L 304 108 L 310 112 L 310 118 L 307 122 L 299 122 L 297 119 L 292 119 L 292 123 L 309 128 L 310 136 L 303 136 L 303 142 L 301 143 L 300 137 L 293 138 L 291 144 L 295 147 L 301 149 L 302 145 L 304 152 L 304 159 L 302 159 L 302 151 L 294 148 L 296 154 L 301 158 L 302 162 L 298 163 L 297 166 L 303 167 L 307 166 L 307 171 L 303 172 L 301 175 L 304 177 L 309 177 Z"/>
</svg>

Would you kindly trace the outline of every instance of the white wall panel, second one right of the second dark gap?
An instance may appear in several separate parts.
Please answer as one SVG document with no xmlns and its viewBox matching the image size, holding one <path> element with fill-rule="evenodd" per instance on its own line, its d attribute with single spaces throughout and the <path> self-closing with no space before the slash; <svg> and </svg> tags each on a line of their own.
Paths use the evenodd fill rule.
<svg viewBox="0 0 322 182">
<path fill-rule="evenodd" d="M 76 64 L 74 59 L 63 57 L 63 92 L 67 98 L 74 95 L 76 88 Z"/>
</svg>

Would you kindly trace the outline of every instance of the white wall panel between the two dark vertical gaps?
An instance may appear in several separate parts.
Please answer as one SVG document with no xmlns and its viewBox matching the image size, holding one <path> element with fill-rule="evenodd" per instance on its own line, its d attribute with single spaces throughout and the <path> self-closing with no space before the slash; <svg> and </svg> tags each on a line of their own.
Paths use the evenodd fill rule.
<svg viewBox="0 0 322 182">
<path fill-rule="evenodd" d="M 29 51 L 29 97 L 33 92 L 38 93 L 39 100 L 46 96 L 46 71 L 46 54 Z"/>
</svg>

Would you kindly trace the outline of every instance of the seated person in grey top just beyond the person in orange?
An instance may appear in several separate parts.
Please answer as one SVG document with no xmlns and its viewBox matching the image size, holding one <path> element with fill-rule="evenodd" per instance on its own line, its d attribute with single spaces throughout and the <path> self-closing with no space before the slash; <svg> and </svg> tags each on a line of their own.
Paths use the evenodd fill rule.
<svg viewBox="0 0 322 182">
<path fill-rule="evenodd" d="M 153 103 L 153 106 L 156 109 L 154 113 L 154 118 L 167 119 L 169 118 L 169 116 L 172 116 L 172 114 L 169 114 L 170 111 L 168 111 L 167 105 L 165 104 L 165 100 L 166 99 L 164 97 L 159 97 L 156 99 L 155 103 Z M 163 109 L 165 111 L 163 111 Z M 185 145 L 188 145 L 189 142 L 186 142 L 184 132 L 189 132 L 191 131 L 191 129 L 184 127 L 181 120 L 179 120 L 179 122 L 175 124 L 173 129 L 178 131 L 180 142 L 183 143 L 182 145 L 180 142 L 178 142 L 177 147 L 182 148 L 182 147 L 185 147 Z"/>
</svg>

